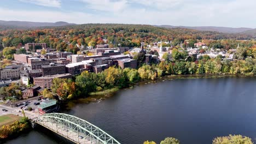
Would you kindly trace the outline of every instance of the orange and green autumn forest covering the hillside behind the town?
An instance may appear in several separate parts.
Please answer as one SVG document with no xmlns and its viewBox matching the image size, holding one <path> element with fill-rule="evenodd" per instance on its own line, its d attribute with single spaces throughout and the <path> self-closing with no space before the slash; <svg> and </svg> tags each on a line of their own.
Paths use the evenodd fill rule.
<svg viewBox="0 0 256 144">
<path fill-rule="evenodd" d="M 202 32 L 185 28 L 167 29 L 150 25 L 122 24 L 86 24 L 0 31 L 0 43 L 5 47 L 20 47 L 26 43 L 46 43 L 53 49 L 70 51 L 73 53 L 76 53 L 79 50 L 77 44 L 79 46 L 109 44 L 110 47 L 118 46 L 118 44 L 120 44 L 121 46 L 136 47 L 141 45 L 141 41 L 150 44 L 162 40 L 173 41 L 172 45 L 176 46 L 189 39 L 251 39 L 251 37 L 248 37 L 247 35 L 224 34 L 218 32 Z M 232 46 L 233 45 L 228 47 Z"/>
</svg>

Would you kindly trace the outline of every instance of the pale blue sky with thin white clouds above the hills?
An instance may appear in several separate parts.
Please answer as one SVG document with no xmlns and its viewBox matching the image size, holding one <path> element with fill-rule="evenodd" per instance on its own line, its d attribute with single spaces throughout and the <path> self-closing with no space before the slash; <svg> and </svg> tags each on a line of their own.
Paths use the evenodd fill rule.
<svg viewBox="0 0 256 144">
<path fill-rule="evenodd" d="M 0 20 L 256 28 L 255 0 L 1 0 Z"/>
</svg>

